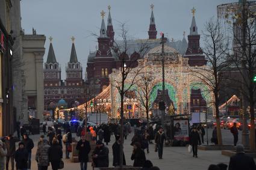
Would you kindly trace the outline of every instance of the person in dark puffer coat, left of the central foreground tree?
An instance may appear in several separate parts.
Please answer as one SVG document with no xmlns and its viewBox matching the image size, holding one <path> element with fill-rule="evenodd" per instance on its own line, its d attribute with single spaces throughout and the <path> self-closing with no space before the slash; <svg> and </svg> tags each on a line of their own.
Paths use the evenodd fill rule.
<svg viewBox="0 0 256 170">
<path fill-rule="evenodd" d="M 101 141 L 96 142 L 96 148 L 92 153 L 93 165 L 95 168 L 108 167 L 108 148 Z"/>
</svg>

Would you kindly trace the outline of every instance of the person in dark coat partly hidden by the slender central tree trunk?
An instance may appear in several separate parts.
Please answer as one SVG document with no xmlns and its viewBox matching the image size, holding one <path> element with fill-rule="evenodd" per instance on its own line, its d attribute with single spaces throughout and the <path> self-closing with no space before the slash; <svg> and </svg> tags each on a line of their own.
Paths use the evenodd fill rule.
<svg viewBox="0 0 256 170">
<path fill-rule="evenodd" d="M 116 136 L 116 142 L 112 145 L 112 151 L 113 151 L 113 166 L 120 166 L 120 145 L 121 139 L 120 135 Z M 123 153 L 123 165 L 126 165 L 125 162 L 125 154 Z"/>
</svg>

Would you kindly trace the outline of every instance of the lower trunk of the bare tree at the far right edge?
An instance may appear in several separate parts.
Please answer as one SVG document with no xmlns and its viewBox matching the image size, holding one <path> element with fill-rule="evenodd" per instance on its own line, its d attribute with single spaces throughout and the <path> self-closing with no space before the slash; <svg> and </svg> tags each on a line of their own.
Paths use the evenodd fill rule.
<svg viewBox="0 0 256 170">
<path fill-rule="evenodd" d="M 253 93 L 252 93 L 253 94 Z M 250 150 L 255 151 L 255 124 L 254 124 L 254 102 L 250 99 L 251 129 L 250 129 Z"/>
</svg>

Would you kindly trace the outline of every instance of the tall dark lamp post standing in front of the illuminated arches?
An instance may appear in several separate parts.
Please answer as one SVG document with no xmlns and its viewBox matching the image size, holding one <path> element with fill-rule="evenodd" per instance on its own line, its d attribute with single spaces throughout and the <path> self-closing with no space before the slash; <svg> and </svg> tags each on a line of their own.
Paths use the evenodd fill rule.
<svg viewBox="0 0 256 170">
<path fill-rule="evenodd" d="M 162 37 L 161 37 L 161 42 L 160 44 L 162 45 L 162 52 L 161 52 L 161 56 L 162 56 L 162 83 L 163 83 L 163 86 L 162 86 L 162 101 L 164 102 L 164 105 L 165 105 L 165 94 L 164 94 L 164 91 L 165 91 L 165 87 L 164 87 L 164 43 L 166 43 L 166 38 L 164 38 L 164 34 L 162 33 Z M 163 109 L 163 111 L 161 111 L 161 124 L 162 126 L 164 126 L 164 116 L 165 116 L 165 109 Z"/>
</svg>

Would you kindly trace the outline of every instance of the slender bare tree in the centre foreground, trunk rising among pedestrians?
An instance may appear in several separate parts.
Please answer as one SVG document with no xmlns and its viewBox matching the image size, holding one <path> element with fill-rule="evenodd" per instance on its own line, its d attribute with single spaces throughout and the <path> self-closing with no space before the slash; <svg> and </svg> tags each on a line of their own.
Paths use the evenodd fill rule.
<svg viewBox="0 0 256 170">
<path fill-rule="evenodd" d="M 128 50 L 129 50 L 129 44 L 128 44 L 128 29 L 126 28 L 125 23 L 120 23 L 120 34 L 119 37 L 122 39 L 122 43 L 118 43 L 117 41 L 114 41 L 113 44 L 113 51 L 118 56 L 120 61 L 120 73 L 121 73 L 121 81 L 117 82 L 116 88 L 118 93 L 120 94 L 120 139 L 121 139 L 121 148 L 120 148 L 120 166 L 123 166 L 123 99 L 125 96 L 125 93 L 130 90 L 133 85 L 136 84 L 136 77 L 140 73 L 140 68 L 134 69 L 134 61 L 128 61 Z M 148 44 L 142 43 L 139 44 L 139 50 L 137 53 L 139 53 L 140 56 L 143 56 L 147 50 L 149 49 Z M 133 73 L 133 77 L 130 79 L 130 84 L 125 87 L 126 79 L 128 78 L 128 75 Z"/>
</svg>

